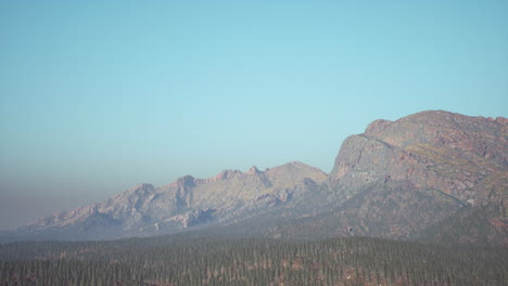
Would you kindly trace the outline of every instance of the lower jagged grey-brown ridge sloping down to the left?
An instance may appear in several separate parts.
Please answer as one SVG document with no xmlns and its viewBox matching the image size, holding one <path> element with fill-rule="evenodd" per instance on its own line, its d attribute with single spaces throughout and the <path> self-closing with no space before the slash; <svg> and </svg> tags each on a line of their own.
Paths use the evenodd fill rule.
<svg viewBox="0 0 508 286">
<path fill-rule="evenodd" d="M 320 183 L 326 179 L 319 169 L 297 161 L 267 171 L 256 167 L 247 172 L 225 170 L 209 179 L 185 176 L 162 187 L 140 184 L 104 202 L 39 220 L 21 231 L 27 235 L 46 232 L 48 236 L 54 231 L 68 233 L 64 236 L 67 239 L 173 233 L 214 220 L 238 220 L 246 211 L 283 205 L 302 190 L 299 183 Z"/>
</svg>

